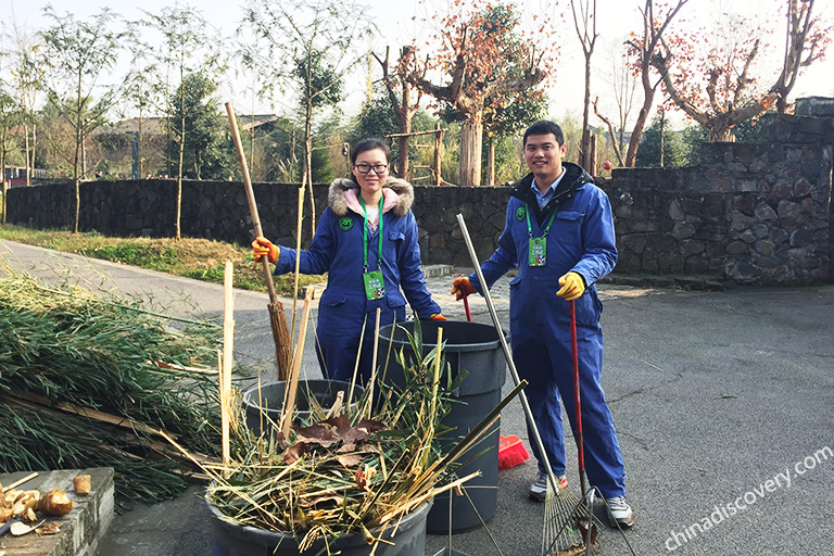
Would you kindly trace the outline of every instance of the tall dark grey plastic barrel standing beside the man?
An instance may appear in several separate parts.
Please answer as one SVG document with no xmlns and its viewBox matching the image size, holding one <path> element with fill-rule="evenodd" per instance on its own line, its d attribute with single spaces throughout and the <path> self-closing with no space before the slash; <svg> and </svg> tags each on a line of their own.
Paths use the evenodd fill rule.
<svg viewBox="0 0 834 556">
<path fill-rule="evenodd" d="M 458 403 L 452 404 L 450 414 L 442 421 L 446 427 L 456 429 L 451 433 L 453 437 L 466 435 L 501 402 L 501 388 L 506 379 L 507 362 L 498 334 L 495 327 L 491 325 L 460 320 L 424 320 L 420 321 L 420 328 L 425 354 L 437 346 L 438 328 L 443 328 L 445 358 L 452 367 L 453 376 L 457 376 L 463 369 L 468 371 L 460 388 L 454 393 Z M 407 359 L 408 354 L 414 352 L 406 332 L 414 334 L 414 321 L 381 328 L 380 351 L 384 353 L 389 342 L 393 341 L 393 349 L 397 352 L 403 350 Z M 507 336 L 506 331 L 504 333 Z M 403 368 L 396 364 L 393 356 L 389 362 L 384 380 L 400 388 L 405 384 Z M 451 525 L 450 493 L 442 493 L 434 497 L 434 505 L 427 520 L 427 529 L 430 533 L 446 532 L 450 528 L 455 533 L 477 529 L 481 527 L 478 514 L 484 521 L 495 514 L 498 501 L 500 429 L 501 419 L 484 433 L 480 442 L 458 459 L 458 462 L 467 462 L 479 452 L 483 452 L 458 470 L 460 477 L 478 470 L 482 475 L 464 484 L 468 497 L 452 496 Z M 446 443 L 455 444 L 456 442 L 448 440 Z"/>
</svg>

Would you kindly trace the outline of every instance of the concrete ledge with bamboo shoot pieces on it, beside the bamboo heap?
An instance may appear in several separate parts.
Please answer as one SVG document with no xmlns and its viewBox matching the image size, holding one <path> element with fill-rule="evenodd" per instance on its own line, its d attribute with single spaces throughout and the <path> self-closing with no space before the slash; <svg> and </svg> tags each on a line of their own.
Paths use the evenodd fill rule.
<svg viewBox="0 0 834 556">
<path fill-rule="evenodd" d="M 0 475 L 0 483 L 11 484 L 24 478 L 28 472 Z M 87 496 L 78 496 L 73 489 L 73 479 L 79 475 L 90 476 L 92 488 Z M 39 490 L 41 493 L 52 489 L 66 491 L 75 505 L 73 510 L 61 517 L 47 518 L 61 527 L 58 534 L 39 536 L 36 532 L 23 536 L 5 534 L 0 538 L 0 553 L 7 556 L 93 556 L 99 541 L 113 521 L 113 469 L 98 467 L 91 469 L 65 469 L 40 471 L 40 475 L 17 486 L 18 490 Z"/>
</svg>

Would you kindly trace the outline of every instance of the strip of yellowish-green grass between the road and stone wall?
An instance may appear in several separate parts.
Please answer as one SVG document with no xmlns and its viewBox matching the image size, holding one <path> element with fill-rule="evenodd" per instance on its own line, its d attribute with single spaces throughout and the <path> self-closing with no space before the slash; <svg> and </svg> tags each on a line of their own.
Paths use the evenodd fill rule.
<svg viewBox="0 0 834 556">
<path fill-rule="evenodd" d="M 226 261 L 231 261 L 235 264 L 236 288 L 266 291 L 263 270 L 252 260 L 252 250 L 233 243 L 197 238 L 179 241 L 170 238 L 109 238 L 96 231 L 72 233 L 20 226 L 0 227 L 0 239 L 214 283 L 223 283 L 224 265 Z M 303 291 L 305 286 L 326 279 L 325 276 L 302 275 L 299 277 L 299 289 Z M 292 275 L 275 277 L 274 280 L 279 294 L 292 295 Z"/>
</svg>

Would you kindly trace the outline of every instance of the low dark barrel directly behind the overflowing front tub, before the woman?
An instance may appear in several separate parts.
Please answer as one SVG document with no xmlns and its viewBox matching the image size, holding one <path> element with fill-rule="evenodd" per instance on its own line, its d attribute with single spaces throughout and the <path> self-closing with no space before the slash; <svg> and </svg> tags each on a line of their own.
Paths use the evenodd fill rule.
<svg viewBox="0 0 834 556">
<path fill-rule="evenodd" d="M 353 399 L 351 405 L 355 409 L 356 401 L 362 397 L 364 388 L 353 387 Z M 309 419 L 312 407 L 311 400 L 327 410 L 336 403 L 339 392 L 344 392 L 344 404 L 348 403 L 348 393 L 351 383 L 341 380 L 303 380 L 299 382 L 299 390 L 295 395 L 295 418 L 294 424 Z M 267 382 L 258 388 L 252 388 L 243 393 L 243 408 L 247 412 L 247 427 L 249 430 L 261 435 L 261 424 L 269 424 L 271 427 L 278 427 L 281 420 L 281 409 L 283 407 L 283 393 L 287 390 L 287 382 Z"/>
</svg>

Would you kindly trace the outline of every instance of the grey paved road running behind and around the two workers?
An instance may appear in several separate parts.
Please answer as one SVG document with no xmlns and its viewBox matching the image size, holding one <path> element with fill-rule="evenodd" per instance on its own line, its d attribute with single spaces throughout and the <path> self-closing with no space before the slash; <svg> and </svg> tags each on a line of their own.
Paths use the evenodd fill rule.
<svg viewBox="0 0 834 556">
<path fill-rule="evenodd" d="M 216 315 L 222 306 L 218 286 L 13 243 L 0 242 L 0 254 L 45 279 L 150 295 L 168 314 Z M 448 282 L 429 287 L 444 314 L 463 318 Z M 504 291 L 500 285 L 496 296 L 506 321 Z M 627 533 L 634 552 L 834 553 L 834 288 L 601 291 L 604 386 L 637 519 Z M 237 356 L 268 375 L 266 296 L 237 292 L 236 304 Z M 472 308 L 490 321 L 482 302 Z M 305 372 L 317 375 L 315 357 L 304 359 Z M 526 437 L 520 404 L 503 414 L 502 432 Z M 505 555 L 541 553 L 543 507 L 526 496 L 534 475 L 532 463 L 500 472 L 488 528 Z M 576 469 L 568 478 L 576 488 Z M 99 553 L 208 555 L 208 520 L 195 494 L 118 517 Z M 427 555 L 446 542 L 430 535 Z M 629 554 L 610 529 L 601 543 L 602 554 Z M 484 529 L 453 535 L 452 546 L 498 554 Z"/>
</svg>

